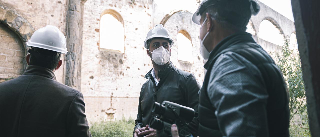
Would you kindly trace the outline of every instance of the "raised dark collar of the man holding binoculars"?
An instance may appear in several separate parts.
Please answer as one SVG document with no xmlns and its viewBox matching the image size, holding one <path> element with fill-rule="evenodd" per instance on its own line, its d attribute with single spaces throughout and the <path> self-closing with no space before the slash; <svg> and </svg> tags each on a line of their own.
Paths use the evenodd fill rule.
<svg viewBox="0 0 320 137">
<path fill-rule="evenodd" d="M 212 60 L 223 50 L 240 43 L 256 43 L 250 33 L 239 32 L 223 39 L 210 53 L 209 60 L 204 64 L 204 68 L 208 69 Z"/>
</svg>

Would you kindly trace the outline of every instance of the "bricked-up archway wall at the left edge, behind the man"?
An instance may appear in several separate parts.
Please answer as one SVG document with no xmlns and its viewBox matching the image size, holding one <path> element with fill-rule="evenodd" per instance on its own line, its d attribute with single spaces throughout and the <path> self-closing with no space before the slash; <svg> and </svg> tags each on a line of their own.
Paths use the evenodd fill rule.
<svg viewBox="0 0 320 137">
<path fill-rule="evenodd" d="M 0 23 L 0 83 L 22 75 L 24 50 L 19 36 Z"/>
</svg>

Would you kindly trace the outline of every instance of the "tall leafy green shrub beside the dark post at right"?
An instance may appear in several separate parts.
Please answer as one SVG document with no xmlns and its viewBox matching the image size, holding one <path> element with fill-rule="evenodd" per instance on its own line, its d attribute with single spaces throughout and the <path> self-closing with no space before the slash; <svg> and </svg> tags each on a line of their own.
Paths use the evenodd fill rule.
<svg viewBox="0 0 320 137">
<path fill-rule="evenodd" d="M 282 52 L 276 53 L 276 62 L 289 89 L 290 135 L 311 136 L 299 52 L 294 53 L 289 48 L 289 39 L 284 41 Z"/>
</svg>

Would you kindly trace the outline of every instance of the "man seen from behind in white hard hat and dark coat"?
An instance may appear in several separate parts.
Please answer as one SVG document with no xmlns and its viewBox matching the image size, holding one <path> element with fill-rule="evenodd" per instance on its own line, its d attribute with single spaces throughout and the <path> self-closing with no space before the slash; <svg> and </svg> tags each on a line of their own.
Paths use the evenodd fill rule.
<svg viewBox="0 0 320 137">
<path fill-rule="evenodd" d="M 28 68 L 0 84 L 0 136 L 89 137 L 83 94 L 56 81 L 66 37 L 48 25 L 28 41 Z"/>
</svg>

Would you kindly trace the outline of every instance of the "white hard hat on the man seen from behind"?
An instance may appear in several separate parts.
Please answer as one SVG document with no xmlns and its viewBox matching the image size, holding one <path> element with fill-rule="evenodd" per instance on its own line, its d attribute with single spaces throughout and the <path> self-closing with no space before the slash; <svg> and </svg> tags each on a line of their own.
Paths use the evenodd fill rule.
<svg viewBox="0 0 320 137">
<path fill-rule="evenodd" d="M 47 25 L 38 29 L 27 42 L 28 47 L 37 47 L 66 54 L 67 40 L 59 28 Z"/>
</svg>

